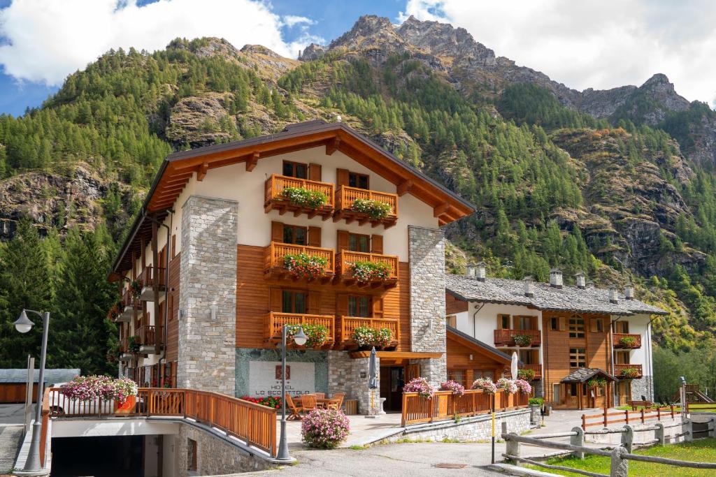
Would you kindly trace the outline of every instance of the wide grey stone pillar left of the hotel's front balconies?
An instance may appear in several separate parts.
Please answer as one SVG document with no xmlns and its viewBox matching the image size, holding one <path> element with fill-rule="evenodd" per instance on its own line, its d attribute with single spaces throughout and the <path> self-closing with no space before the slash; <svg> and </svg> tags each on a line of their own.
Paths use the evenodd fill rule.
<svg viewBox="0 0 716 477">
<path fill-rule="evenodd" d="M 235 393 L 237 222 L 233 200 L 193 195 L 182 207 L 179 388 Z"/>
</svg>

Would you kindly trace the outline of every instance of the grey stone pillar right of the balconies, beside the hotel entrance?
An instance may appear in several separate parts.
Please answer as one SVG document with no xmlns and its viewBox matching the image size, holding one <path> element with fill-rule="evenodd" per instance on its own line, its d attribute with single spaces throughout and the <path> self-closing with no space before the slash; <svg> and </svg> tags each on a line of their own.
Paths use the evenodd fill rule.
<svg viewBox="0 0 716 477">
<path fill-rule="evenodd" d="M 448 379 L 445 359 L 445 233 L 440 229 L 408 227 L 410 246 L 410 347 L 440 352 L 442 358 L 420 360 L 421 373 L 431 383 Z"/>
</svg>

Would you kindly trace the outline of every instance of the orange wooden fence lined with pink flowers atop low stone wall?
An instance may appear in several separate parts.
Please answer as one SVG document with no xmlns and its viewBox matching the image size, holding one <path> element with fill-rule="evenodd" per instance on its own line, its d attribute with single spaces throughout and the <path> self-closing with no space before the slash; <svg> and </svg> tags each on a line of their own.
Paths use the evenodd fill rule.
<svg viewBox="0 0 716 477">
<path fill-rule="evenodd" d="M 526 408 L 530 398 L 526 393 L 509 394 L 501 389 L 494 396 L 495 411 Z M 417 393 L 403 393 L 402 426 L 488 414 L 493 410 L 492 398 L 492 394 L 475 389 L 465 390 L 463 395 L 437 391 L 430 399 Z"/>
</svg>

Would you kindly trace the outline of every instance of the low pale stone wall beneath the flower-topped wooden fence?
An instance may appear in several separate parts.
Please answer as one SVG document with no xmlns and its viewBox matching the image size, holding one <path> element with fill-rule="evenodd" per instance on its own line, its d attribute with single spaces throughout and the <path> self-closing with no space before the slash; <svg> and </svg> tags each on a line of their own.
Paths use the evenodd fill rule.
<svg viewBox="0 0 716 477">
<path fill-rule="evenodd" d="M 502 432 L 502 423 L 507 423 L 507 431 L 523 433 L 531 428 L 529 409 L 508 410 L 495 413 L 495 433 Z M 439 423 L 408 426 L 405 433 L 387 438 L 389 442 L 409 441 L 442 441 L 450 439 L 461 442 L 488 441 L 492 438 L 492 416 L 477 415 L 463 418 L 460 422 L 441 421 Z"/>
</svg>

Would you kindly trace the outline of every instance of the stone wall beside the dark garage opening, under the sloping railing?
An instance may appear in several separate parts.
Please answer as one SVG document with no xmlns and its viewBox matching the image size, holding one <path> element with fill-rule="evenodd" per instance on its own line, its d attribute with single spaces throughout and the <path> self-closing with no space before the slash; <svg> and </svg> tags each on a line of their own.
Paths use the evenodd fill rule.
<svg viewBox="0 0 716 477">
<path fill-rule="evenodd" d="M 178 477 L 263 471 L 273 467 L 268 461 L 232 446 L 223 438 L 213 436 L 196 426 L 182 424 L 176 439 L 178 462 L 175 463 L 174 470 Z M 197 470 L 191 473 L 188 471 L 188 439 L 196 442 Z"/>
</svg>

